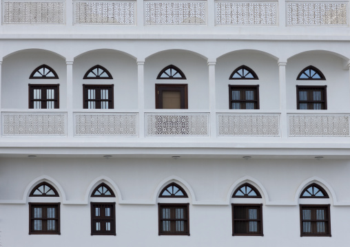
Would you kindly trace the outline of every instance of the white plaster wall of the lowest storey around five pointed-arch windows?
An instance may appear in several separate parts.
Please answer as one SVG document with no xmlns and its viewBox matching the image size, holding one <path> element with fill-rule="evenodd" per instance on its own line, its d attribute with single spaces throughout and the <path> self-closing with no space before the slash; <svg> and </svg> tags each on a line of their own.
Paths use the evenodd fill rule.
<svg viewBox="0 0 350 247">
<path fill-rule="evenodd" d="M 21 199 L 25 187 L 40 175 L 50 175 L 68 200 L 81 200 L 89 184 L 100 175 L 113 180 L 123 200 L 150 200 L 158 184 L 177 175 L 192 187 L 198 201 L 223 200 L 231 184 L 250 175 L 266 189 L 272 202 L 294 198 L 298 186 L 313 175 L 327 181 L 338 200 L 349 201 L 347 160 L 214 160 L 214 159 L 1 159 L 0 198 Z M 155 172 L 156 171 L 156 172 Z M 342 171 L 342 173 L 339 173 Z M 25 175 L 24 175 L 25 174 Z M 11 184 L 11 186 L 9 186 Z M 187 189 L 187 188 L 185 188 Z M 331 196 L 331 195 L 330 195 Z M 30 197 L 31 202 L 61 198 Z M 110 200 L 110 199 L 108 199 Z M 230 203 L 236 203 L 231 199 Z M 191 201 L 191 200 L 189 200 Z M 61 235 L 28 235 L 28 203 L 0 204 L 3 246 L 342 246 L 347 241 L 350 206 L 331 204 L 332 237 L 300 237 L 299 207 L 266 206 L 263 202 L 264 237 L 232 237 L 231 204 L 189 206 L 191 236 L 158 236 L 156 204 L 116 202 L 116 237 L 90 236 L 88 204 L 61 204 Z M 159 200 L 157 200 L 159 202 Z M 176 199 L 174 200 L 176 202 Z M 242 202 L 242 200 L 240 200 Z M 245 200 L 246 203 L 252 201 Z M 254 200 L 256 203 L 256 200 Z M 300 202 L 302 203 L 302 202 Z M 313 200 L 314 204 L 325 203 Z"/>
</svg>

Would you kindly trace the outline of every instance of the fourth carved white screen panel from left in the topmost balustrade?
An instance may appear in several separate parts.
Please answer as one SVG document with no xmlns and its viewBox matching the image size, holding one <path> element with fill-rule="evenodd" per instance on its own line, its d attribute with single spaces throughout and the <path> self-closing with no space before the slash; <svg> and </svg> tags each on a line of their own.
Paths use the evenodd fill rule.
<svg viewBox="0 0 350 247">
<path fill-rule="evenodd" d="M 276 2 L 216 1 L 216 25 L 277 25 Z"/>
</svg>

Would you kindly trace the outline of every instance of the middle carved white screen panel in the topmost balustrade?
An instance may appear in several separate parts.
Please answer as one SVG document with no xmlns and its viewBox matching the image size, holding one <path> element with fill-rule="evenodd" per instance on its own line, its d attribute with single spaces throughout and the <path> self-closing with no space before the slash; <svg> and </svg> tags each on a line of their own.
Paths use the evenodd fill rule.
<svg viewBox="0 0 350 247">
<path fill-rule="evenodd" d="M 145 1 L 146 25 L 205 25 L 206 1 Z"/>
</svg>

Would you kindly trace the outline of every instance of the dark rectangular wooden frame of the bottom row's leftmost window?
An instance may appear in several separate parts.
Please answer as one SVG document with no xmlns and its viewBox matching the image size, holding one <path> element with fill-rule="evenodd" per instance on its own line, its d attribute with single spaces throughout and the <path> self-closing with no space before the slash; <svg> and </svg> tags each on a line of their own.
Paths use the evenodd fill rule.
<svg viewBox="0 0 350 247">
<path fill-rule="evenodd" d="M 50 203 L 43 203 L 43 202 L 28 202 L 29 204 L 29 235 L 61 235 L 61 230 L 60 230 L 60 202 L 50 202 Z M 48 217 L 43 217 L 43 218 L 32 218 L 32 208 L 33 207 L 41 207 L 41 208 L 49 208 L 49 207 L 55 207 L 57 211 L 57 216 L 55 218 L 48 218 Z M 43 210 L 44 212 L 44 210 Z M 56 220 L 57 221 L 57 229 L 55 231 L 48 231 L 48 230 L 41 230 L 41 231 L 34 231 L 32 227 L 32 221 L 35 219 L 41 219 L 43 226 L 47 226 L 48 220 Z"/>
</svg>

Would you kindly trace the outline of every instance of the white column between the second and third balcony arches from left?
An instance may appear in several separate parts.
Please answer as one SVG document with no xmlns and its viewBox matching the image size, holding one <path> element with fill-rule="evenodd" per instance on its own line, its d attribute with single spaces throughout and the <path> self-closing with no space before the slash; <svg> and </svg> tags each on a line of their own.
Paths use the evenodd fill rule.
<svg viewBox="0 0 350 247">
<path fill-rule="evenodd" d="M 145 137 L 145 61 L 137 61 L 138 136 Z"/>
</svg>

